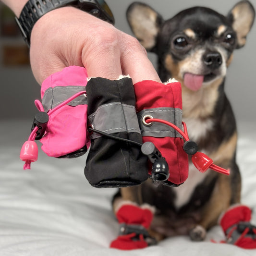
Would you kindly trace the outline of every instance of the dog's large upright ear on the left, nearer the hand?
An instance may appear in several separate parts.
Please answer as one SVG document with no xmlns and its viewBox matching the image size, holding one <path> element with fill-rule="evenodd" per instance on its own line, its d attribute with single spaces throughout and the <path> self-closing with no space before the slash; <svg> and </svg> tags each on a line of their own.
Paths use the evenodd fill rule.
<svg viewBox="0 0 256 256">
<path fill-rule="evenodd" d="M 127 21 L 142 46 L 154 51 L 162 17 L 145 3 L 134 2 L 126 12 Z"/>
</svg>

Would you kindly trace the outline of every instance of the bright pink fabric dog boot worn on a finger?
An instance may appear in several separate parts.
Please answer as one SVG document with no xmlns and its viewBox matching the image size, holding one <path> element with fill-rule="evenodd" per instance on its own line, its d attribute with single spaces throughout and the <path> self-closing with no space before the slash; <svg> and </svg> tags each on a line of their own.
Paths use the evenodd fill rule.
<svg viewBox="0 0 256 256">
<path fill-rule="evenodd" d="M 87 134 L 87 98 L 83 94 L 86 84 L 86 69 L 78 66 L 53 73 L 43 82 L 43 111 L 50 117 L 40 141 L 48 156 L 74 158 L 87 151 L 90 141 Z M 80 96 L 72 99 L 79 93 Z M 69 102 L 61 106 L 66 100 Z"/>
</svg>

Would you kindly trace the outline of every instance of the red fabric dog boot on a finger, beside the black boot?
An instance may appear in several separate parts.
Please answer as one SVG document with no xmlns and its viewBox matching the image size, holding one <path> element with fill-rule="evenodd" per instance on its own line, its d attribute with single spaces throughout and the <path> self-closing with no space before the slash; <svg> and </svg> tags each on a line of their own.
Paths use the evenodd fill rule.
<svg viewBox="0 0 256 256">
<path fill-rule="evenodd" d="M 182 129 L 181 84 L 176 80 L 167 85 L 147 80 L 136 83 L 134 92 L 143 142 L 152 142 L 156 151 L 161 152 L 159 158 L 165 158 L 169 166 L 170 176 L 162 183 L 170 186 L 184 183 L 188 177 L 188 156 L 183 150 L 182 135 L 168 125 L 150 122 L 154 119 L 163 120 Z M 162 162 L 159 166 L 165 167 Z M 154 176 L 150 168 L 149 174 Z"/>
</svg>

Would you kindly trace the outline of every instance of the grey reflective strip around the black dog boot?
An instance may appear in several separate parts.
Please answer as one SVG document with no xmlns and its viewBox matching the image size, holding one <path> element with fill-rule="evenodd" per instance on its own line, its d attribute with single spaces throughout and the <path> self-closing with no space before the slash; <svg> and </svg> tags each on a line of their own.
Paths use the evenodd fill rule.
<svg viewBox="0 0 256 256">
<path fill-rule="evenodd" d="M 141 134 L 135 107 L 121 102 L 102 105 L 88 117 L 94 129 L 107 134 L 127 132 Z M 101 135 L 93 133 L 95 139 Z"/>
</svg>

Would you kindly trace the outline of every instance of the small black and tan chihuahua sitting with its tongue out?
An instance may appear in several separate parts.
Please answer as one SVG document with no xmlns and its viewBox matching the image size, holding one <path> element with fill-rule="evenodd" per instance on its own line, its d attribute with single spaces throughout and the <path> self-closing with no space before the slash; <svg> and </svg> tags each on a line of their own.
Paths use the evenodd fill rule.
<svg viewBox="0 0 256 256">
<path fill-rule="evenodd" d="M 121 188 L 113 200 L 114 210 L 123 200 L 154 206 L 150 234 L 158 241 L 172 235 L 201 241 L 222 212 L 240 203 L 236 123 L 224 83 L 233 51 L 245 45 L 254 18 L 247 0 L 238 2 L 227 16 L 194 7 L 164 21 L 140 2 L 127 10 L 135 37 L 157 54 L 161 80 L 173 77 L 182 85 L 183 121 L 191 140 L 217 165 L 231 171 L 230 176 L 214 171 L 202 174 L 189 164 L 188 179 L 179 187 L 154 186 L 148 180 Z"/>
</svg>

